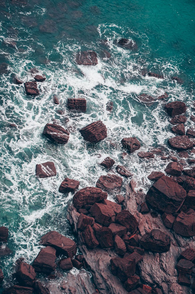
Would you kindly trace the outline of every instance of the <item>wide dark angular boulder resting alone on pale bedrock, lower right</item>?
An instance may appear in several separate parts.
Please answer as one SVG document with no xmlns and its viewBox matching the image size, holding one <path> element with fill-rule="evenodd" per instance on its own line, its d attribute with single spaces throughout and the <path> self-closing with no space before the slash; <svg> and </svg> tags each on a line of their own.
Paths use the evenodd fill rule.
<svg viewBox="0 0 195 294">
<path fill-rule="evenodd" d="M 158 229 L 151 230 L 150 233 L 142 236 L 140 246 L 154 252 L 166 252 L 170 249 L 170 236 Z"/>
</svg>

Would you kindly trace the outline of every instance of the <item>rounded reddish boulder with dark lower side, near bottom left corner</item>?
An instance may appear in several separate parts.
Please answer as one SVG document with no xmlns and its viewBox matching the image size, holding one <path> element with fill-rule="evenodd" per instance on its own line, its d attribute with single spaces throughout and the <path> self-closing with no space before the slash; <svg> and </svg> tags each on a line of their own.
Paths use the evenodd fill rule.
<svg viewBox="0 0 195 294">
<path fill-rule="evenodd" d="M 22 286 L 31 287 L 35 283 L 36 273 L 32 265 L 22 262 L 16 271 L 16 279 Z"/>
</svg>

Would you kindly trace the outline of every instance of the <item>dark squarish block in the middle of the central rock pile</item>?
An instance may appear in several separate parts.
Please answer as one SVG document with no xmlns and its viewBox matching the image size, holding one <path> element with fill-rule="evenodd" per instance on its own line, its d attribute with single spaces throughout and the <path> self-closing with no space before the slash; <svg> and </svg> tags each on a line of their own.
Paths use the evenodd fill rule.
<svg viewBox="0 0 195 294">
<path fill-rule="evenodd" d="M 96 231 L 96 237 L 102 248 L 110 248 L 114 246 L 112 239 L 112 231 L 107 227 L 99 228 Z"/>
</svg>

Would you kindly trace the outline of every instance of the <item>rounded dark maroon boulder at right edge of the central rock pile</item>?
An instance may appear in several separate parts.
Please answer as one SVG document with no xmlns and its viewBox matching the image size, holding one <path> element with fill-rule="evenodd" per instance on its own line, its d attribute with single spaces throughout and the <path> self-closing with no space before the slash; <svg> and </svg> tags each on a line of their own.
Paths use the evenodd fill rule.
<svg viewBox="0 0 195 294">
<path fill-rule="evenodd" d="M 128 210 L 122 210 L 119 212 L 115 218 L 115 221 L 116 223 L 126 227 L 127 231 L 130 233 L 134 233 L 138 226 L 138 222 Z"/>
</svg>

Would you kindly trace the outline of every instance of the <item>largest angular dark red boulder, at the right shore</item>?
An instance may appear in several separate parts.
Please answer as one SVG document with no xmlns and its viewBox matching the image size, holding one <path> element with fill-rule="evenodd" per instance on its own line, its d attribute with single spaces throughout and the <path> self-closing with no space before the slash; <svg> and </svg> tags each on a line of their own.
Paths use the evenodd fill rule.
<svg viewBox="0 0 195 294">
<path fill-rule="evenodd" d="M 156 181 L 146 194 L 151 206 L 166 213 L 175 213 L 182 206 L 186 191 L 173 178 L 163 176 Z"/>
</svg>

